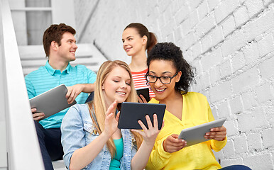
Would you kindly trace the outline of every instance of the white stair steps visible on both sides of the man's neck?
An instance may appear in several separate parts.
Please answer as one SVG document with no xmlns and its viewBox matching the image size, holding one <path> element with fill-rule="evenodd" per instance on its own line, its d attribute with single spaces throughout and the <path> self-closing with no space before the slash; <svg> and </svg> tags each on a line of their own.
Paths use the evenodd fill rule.
<svg viewBox="0 0 274 170">
<path fill-rule="evenodd" d="M 93 44 L 77 44 L 76 60 L 70 62 L 72 66 L 85 65 L 88 69 L 98 72 L 100 65 L 107 59 Z M 18 46 L 23 74 L 26 76 L 40 66 L 44 66 L 48 60 L 45 57 L 43 45 L 21 45 Z"/>
</svg>

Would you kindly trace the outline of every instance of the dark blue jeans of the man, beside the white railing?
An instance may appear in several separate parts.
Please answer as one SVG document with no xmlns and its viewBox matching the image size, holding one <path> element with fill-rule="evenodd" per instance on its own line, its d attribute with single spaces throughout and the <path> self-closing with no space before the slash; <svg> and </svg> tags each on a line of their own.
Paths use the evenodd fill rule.
<svg viewBox="0 0 274 170">
<path fill-rule="evenodd" d="M 64 154 L 61 145 L 61 130 L 60 128 L 45 129 L 37 121 L 34 121 L 34 123 L 45 170 L 53 170 L 51 162 L 62 159 Z"/>
</svg>

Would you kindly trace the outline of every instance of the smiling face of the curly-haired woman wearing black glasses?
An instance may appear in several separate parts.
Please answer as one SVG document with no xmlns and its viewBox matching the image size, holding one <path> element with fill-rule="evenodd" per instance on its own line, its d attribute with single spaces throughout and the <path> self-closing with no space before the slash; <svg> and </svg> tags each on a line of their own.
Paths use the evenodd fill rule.
<svg viewBox="0 0 274 170">
<path fill-rule="evenodd" d="M 148 74 L 155 77 L 173 77 L 177 71 L 174 64 L 167 60 L 151 61 L 148 70 Z M 160 79 L 157 79 L 155 83 L 149 83 L 158 101 L 166 100 L 170 97 L 170 94 L 175 93 L 175 83 L 180 80 L 181 74 L 181 72 L 178 72 L 178 74 L 171 79 L 170 84 L 163 84 Z"/>
</svg>

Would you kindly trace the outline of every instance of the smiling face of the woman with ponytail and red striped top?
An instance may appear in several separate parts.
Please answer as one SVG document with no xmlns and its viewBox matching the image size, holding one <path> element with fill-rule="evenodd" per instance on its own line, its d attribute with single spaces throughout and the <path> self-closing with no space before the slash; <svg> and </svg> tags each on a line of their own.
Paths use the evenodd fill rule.
<svg viewBox="0 0 274 170">
<path fill-rule="evenodd" d="M 146 52 L 146 36 L 141 37 L 135 28 L 126 28 L 122 35 L 123 47 L 126 55 L 134 56 Z"/>
</svg>

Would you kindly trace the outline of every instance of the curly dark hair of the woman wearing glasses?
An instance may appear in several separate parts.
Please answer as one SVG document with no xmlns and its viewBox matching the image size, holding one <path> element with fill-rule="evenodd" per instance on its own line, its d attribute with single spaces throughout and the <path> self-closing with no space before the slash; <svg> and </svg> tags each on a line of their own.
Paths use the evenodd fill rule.
<svg viewBox="0 0 274 170">
<path fill-rule="evenodd" d="M 148 72 L 150 62 L 153 60 L 166 60 L 172 62 L 175 69 L 177 69 L 177 72 L 182 72 L 180 81 L 175 84 L 175 90 L 182 91 L 183 94 L 187 94 L 190 84 L 195 81 L 193 72 L 194 68 L 191 67 L 190 64 L 188 64 L 182 57 L 182 50 L 180 50 L 180 47 L 177 47 L 172 42 L 157 43 L 148 53 Z"/>
</svg>

